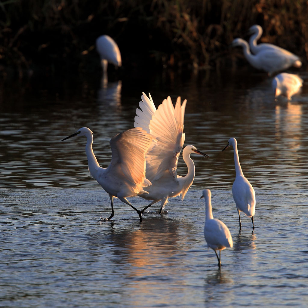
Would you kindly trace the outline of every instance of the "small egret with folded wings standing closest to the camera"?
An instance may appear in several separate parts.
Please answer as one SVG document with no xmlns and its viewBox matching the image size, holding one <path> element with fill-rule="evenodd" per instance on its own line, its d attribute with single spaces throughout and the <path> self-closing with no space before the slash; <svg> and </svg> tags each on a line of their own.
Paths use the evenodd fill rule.
<svg viewBox="0 0 308 308">
<path fill-rule="evenodd" d="M 208 244 L 208 248 L 211 247 L 218 259 L 218 266 L 221 266 L 220 252 L 226 247 L 233 247 L 233 241 L 228 227 L 219 219 L 213 218 L 212 203 L 211 203 L 211 191 L 205 189 L 201 198 L 205 198 L 205 226 L 204 237 Z M 219 257 L 216 250 L 219 250 Z"/>
</svg>

